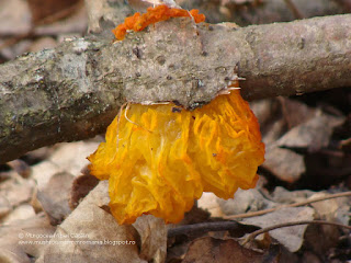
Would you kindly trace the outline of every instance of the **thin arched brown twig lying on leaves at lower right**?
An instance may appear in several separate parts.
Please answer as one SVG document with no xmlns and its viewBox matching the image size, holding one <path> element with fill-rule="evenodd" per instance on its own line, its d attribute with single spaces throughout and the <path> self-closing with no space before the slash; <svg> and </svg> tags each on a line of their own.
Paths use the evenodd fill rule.
<svg viewBox="0 0 351 263">
<path fill-rule="evenodd" d="M 351 230 L 351 226 L 338 224 L 338 222 L 330 222 L 330 221 L 324 221 L 324 220 L 304 220 L 304 221 L 295 221 L 295 222 L 282 222 L 279 225 L 274 225 L 271 227 L 262 228 L 260 230 L 257 230 L 254 232 L 251 232 L 241 243 L 241 245 L 245 245 L 249 241 L 253 240 L 257 236 L 272 231 L 278 228 L 284 228 L 284 227 L 294 227 L 294 226 L 299 226 L 299 225 L 309 225 L 309 224 L 315 224 L 315 225 L 329 225 L 329 226 L 335 226 L 335 227 L 340 227 L 340 228 L 347 228 Z"/>
</svg>

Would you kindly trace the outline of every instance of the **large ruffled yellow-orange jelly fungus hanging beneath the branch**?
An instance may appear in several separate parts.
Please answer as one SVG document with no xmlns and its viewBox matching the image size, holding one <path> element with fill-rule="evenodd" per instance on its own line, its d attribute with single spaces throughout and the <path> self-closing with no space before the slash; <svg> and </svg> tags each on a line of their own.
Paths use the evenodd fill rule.
<svg viewBox="0 0 351 263">
<path fill-rule="evenodd" d="M 203 192 L 230 198 L 238 187 L 254 187 L 264 145 L 239 91 L 194 111 L 132 104 L 126 114 L 129 121 L 123 111 L 89 157 L 91 173 L 109 180 L 118 224 L 143 214 L 179 222 Z"/>
</svg>

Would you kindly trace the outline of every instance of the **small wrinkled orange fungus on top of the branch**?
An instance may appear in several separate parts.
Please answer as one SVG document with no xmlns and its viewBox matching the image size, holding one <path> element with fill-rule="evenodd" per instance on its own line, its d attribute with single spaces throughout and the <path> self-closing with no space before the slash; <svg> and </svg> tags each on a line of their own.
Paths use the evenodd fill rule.
<svg viewBox="0 0 351 263">
<path fill-rule="evenodd" d="M 123 24 L 120 24 L 112 32 L 117 41 L 123 41 L 127 31 L 143 31 L 150 24 L 155 24 L 160 21 L 169 20 L 171 18 L 190 18 L 192 16 L 196 23 L 204 22 L 205 15 L 200 14 L 199 10 L 193 9 L 191 11 L 184 9 L 169 8 L 166 4 L 157 5 L 155 8 L 148 8 L 144 14 L 135 13 L 132 16 L 125 19 Z"/>
</svg>

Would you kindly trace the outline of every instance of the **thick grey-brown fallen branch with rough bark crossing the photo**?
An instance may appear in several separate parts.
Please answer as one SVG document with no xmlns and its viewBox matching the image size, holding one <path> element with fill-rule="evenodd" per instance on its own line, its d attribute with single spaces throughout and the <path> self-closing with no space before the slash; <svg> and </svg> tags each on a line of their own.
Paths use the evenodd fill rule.
<svg viewBox="0 0 351 263">
<path fill-rule="evenodd" d="M 0 163 L 103 133 L 126 101 L 208 103 L 351 85 L 351 15 L 235 28 L 173 19 L 123 42 L 86 37 L 0 66 Z"/>
</svg>

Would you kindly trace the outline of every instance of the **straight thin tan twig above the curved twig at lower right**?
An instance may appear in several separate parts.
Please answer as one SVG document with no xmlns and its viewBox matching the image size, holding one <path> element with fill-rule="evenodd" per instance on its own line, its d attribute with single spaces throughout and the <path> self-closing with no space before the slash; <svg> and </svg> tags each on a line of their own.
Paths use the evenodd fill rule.
<svg viewBox="0 0 351 263">
<path fill-rule="evenodd" d="M 322 196 L 322 197 L 317 197 L 317 198 L 313 198 L 313 199 L 309 199 L 309 201 L 297 202 L 297 203 L 290 204 L 290 205 L 282 205 L 282 206 L 278 206 L 278 207 L 269 208 L 269 209 L 264 209 L 264 210 L 238 214 L 238 215 L 233 215 L 233 216 L 225 216 L 224 218 L 225 219 L 236 219 L 236 218 L 256 217 L 256 216 L 265 215 L 268 213 L 272 213 L 272 211 L 275 211 L 278 209 L 285 208 L 285 207 L 304 206 L 304 205 L 308 205 L 308 204 L 316 203 L 316 202 L 321 202 L 321 201 L 326 201 L 326 199 L 333 199 L 333 198 L 339 198 L 339 197 L 346 197 L 346 196 L 351 196 L 351 191 L 343 192 L 343 193 L 338 193 L 338 194 L 331 194 L 331 195 Z"/>
</svg>

